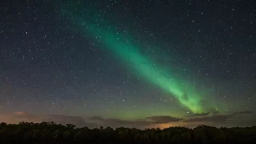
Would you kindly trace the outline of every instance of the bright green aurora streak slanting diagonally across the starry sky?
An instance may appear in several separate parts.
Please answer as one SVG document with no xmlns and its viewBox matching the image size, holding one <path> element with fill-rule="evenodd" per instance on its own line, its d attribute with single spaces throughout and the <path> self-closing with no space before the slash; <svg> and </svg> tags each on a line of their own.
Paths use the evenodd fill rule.
<svg viewBox="0 0 256 144">
<path fill-rule="evenodd" d="M 77 25 L 83 33 L 89 34 L 95 41 L 103 44 L 103 47 L 113 53 L 116 57 L 129 65 L 131 71 L 134 71 L 139 76 L 143 77 L 145 81 L 150 84 L 155 84 L 157 87 L 167 92 L 170 96 L 174 96 L 180 104 L 188 108 L 193 113 L 204 112 L 203 105 L 201 105 L 201 94 L 196 92 L 193 86 L 184 85 L 184 79 L 177 76 L 177 73 L 169 73 L 166 68 L 160 65 L 154 65 L 154 61 L 143 55 L 140 52 L 140 47 L 132 43 L 131 36 L 125 36 L 124 33 L 119 33 L 116 28 L 111 28 L 107 20 L 94 17 L 95 20 L 83 18 L 77 14 L 65 11 L 73 23 Z M 101 23 L 100 23 L 101 20 Z M 95 23 L 92 23 L 95 21 Z M 113 26 L 112 26 L 113 27 Z M 79 29 L 79 30 L 80 30 Z M 169 66 L 172 68 L 172 66 Z"/>
</svg>

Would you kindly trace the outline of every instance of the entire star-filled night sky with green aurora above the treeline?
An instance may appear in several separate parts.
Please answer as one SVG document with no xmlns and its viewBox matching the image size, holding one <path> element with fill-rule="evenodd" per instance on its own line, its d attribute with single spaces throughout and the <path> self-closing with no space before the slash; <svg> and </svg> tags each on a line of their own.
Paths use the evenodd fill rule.
<svg viewBox="0 0 256 144">
<path fill-rule="evenodd" d="M 0 122 L 247 127 L 255 1 L 1 1 Z"/>
</svg>

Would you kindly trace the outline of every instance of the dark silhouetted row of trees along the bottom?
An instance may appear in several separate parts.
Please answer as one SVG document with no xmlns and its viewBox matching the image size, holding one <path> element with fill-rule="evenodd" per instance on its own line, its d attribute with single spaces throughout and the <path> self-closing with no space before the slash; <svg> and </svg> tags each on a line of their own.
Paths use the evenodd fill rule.
<svg viewBox="0 0 256 144">
<path fill-rule="evenodd" d="M 0 143 L 256 143 L 256 126 L 195 129 L 75 128 L 72 124 L 0 124 Z"/>
</svg>

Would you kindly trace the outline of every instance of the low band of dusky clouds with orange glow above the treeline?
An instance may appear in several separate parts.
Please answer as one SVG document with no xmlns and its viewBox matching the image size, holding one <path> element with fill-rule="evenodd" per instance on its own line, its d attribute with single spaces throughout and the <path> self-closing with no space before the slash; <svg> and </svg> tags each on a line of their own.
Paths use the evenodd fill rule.
<svg viewBox="0 0 256 144">
<path fill-rule="evenodd" d="M 49 122 L 53 121 L 56 124 L 74 124 L 76 127 L 89 127 L 89 128 L 96 128 L 96 127 L 129 127 L 129 128 L 136 128 L 136 129 L 145 129 L 145 128 L 159 128 L 164 129 L 168 127 L 188 127 L 190 129 L 193 129 L 195 127 L 198 127 L 200 125 L 207 125 L 210 127 L 223 127 L 222 124 L 225 121 L 218 121 L 215 123 L 215 116 L 236 116 L 236 115 L 246 115 L 250 114 L 252 111 L 241 111 L 239 113 L 230 113 L 228 115 L 218 115 L 213 114 L 212 116 L 210 114 L 207 114 L 207 116 L 185 116 L 183 118 L 175 118 L 172 116 L 148 116 L 145 117 L 145 119 L 104 119 L 102 116 L 65 116 L 60 114 L 42 114 L 42 115 L 33 115 L 31 113 L 24 113 L 24 112 L 15 112 L 15 113 L 6 113 L 4 116 L 1 116 L 1 122 L 6 122 L 7 124 L 19 124 L 20 122 L 33 122 L 33 123 L 41 123 L 41 122 Z M 211 121 L 208 121 L 206 123 L 200 123 L 200 122 L 191 122 L 193 124 L 186 124 L 186 121 L 191 121 L 191 119 L 209 119 L 212 118 Z M 5 121 L 3 119 L 6 119 Z M 33 119 L 32 121 L 29 121 L 29 119 Z M 154 120 L 155 119 L 155 120 Z M 169 121 L 167 121 L 169 120 Z M 9 122 L 8 122 L 9 121 Z M 162 122 L 165 121 L 165 122 Z M 249 125 L 244 124 L 240 127 L 253 127 L 255 125 Z M 227 128 L 231 127 L 239 127 L 236 125 L 227 125 Z"/>
</svg>

